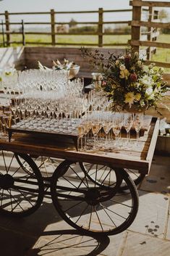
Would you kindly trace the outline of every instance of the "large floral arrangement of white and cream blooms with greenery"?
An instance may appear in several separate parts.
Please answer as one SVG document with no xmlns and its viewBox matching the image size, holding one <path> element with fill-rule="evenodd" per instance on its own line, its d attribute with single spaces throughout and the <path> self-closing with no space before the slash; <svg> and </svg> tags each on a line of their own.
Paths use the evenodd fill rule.
<svg viewBox="0 0 170 256">
<path fill-rule="evenodd" d="M 145 111 L 149 107 L 158 109 L 167 91 L 163 81 L 163 68 L 156 68 L 152 63 L 144 65 L 144 60 L 132 48 L 116 57 L 109 52 L 109 57 L 95 50 L 94 53 L 82 48 L 82 56 L 88 56 L 93 67 L 101 72 L 103 79 L 98 90 L 105 92 L 113 105 L 113 110 Z"/>
</svg>

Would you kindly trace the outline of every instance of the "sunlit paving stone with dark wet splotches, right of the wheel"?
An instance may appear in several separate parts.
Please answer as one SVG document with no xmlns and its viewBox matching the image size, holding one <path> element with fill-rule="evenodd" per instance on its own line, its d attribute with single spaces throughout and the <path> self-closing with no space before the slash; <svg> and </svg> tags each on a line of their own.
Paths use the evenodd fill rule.
<svg viewBox="0 0 170 256">
<path fill-rule="evenodd" d="M 163 238 L 169 198 L 163 194 L 145 191 L 139 191 L 139 196 L 140 205 L 137 217 L 129 230 Z"/>
</svg>

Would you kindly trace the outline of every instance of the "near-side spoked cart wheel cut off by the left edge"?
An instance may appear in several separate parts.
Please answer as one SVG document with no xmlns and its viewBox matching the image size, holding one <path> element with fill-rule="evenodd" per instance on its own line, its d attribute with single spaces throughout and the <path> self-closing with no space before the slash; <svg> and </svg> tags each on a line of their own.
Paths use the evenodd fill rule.
<svg viewBox="0 0 170 256">
<path fill-rule="evenodd" d="M 0 151 L 0 213 L 24 217 L 35 212 L 43 202 L 43 178 L 35 162 L 27 154 Z"/>
</svg>

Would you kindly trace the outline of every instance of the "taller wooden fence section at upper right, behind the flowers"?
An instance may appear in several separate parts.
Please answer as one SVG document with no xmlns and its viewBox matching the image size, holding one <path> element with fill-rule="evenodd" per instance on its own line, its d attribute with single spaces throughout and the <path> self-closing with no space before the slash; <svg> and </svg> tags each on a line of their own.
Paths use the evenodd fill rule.
<svg viewBox="0 0 170 256">
<path fill-rule="evenodd" d="M 155 36 L 153 36 L 153 30 L 161 28 L 170 28 L 170 22 L 160 22 L 157 20 L 156 12 L 154 12 L 155 7 L 170 7 L 170 2 L 167 1 L 143 1 L 143 0 L 133 0 L 129 4 L 132 6 L 132 22 L 131 24 L 131 40 L 129 44 L 133 46 L 136 51 L 140 51 L 140 46 L 146 47 L 148 49 L 148 60 L 146 64 L 150 64 L 150 49 L 151 47 L 160 47 L 163 49 L 170 49 L 169 43 L 159 43 L 156 42 Z M 148 8 L 149 19 L 148 21 L 143 21 L 141 19 L 143 7 Z M 156 18 L 156 20 L 154 20 Z M 141 27 L 148 28 L 148 40 L 143 41 L 141 38 Z M 169 67 L 170 63 L 167 62 L 155 62 L 157 66 Z"/>
</svg>

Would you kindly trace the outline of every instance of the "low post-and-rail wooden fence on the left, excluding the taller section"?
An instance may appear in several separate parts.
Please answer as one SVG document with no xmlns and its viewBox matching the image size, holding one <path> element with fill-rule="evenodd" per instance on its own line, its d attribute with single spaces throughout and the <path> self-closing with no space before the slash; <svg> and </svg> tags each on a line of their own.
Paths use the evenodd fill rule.
<svg viewBox="0 0 170 256">
<path fill-rule="evenodd" d="M 89 46 L 98 46 L 98 47 L 102 47 L 102 46 L 127 46 L 128 43 L 122 43 L 122 44 L 104 44 L 103 43 L 103 36 L 109 36 L 109 35 L 113 35 L 113 32 L 111 33 L 107 33 L 104 31 L 104 26 L 105 25 L 129 25 L 129 20 L 120 20 L 120 21 L 104 21 L 103 16 L 106 13 L 115 13 L 115 12 L 132 12 L 132 9 L 114 9 L 114 10 L 103 10 L 103 8 L 99 8 L 96 11 L 81 11 L 81 12 L 55 12 L 54 9 L 51 9 L 50 12 L 4 12 L 4 13 L 0 13 L 0 17 L 4 17 L 4 21 L 1 22 L 1 26 L 2 26 L 2 34 L 3 34 L 3 38 L 4 36 L 6 36 L 6 41 L 4 40 L 4 44 L 6 46 L 10 46 L 10 44 L 44 44 L 44 45 L 52 45 L 52 46 L 56 46 L 56 45 L 66 45 L 66 43 L 57 43 L 56 38 L 59 35 L 77 35 L 77 36 L 98 36 L 98 44 L 88 44 Z M 96 32 L 56 32 L 56 26 L 59 25 L 69 25 L 70 22 L 56 22 L 56 15 L 68 15 L 68 14 L 97 14 L 98 15 L 98 21 L 96 22 L 76 22 L 77 26 L 78 25 L 95 25 L 97 30 Z M 11 22 L 10 20 L 12 20 L 12 17 L 16 16 L 16 15 L 20 15 L 20 17 L 22 15 L 50 15 L 50 20 L 51 22 L 24 22 L 24 20 L 22 20 L 21 22 Z M 21 31 L 12 31 L 12 25 L 20 25 L 21 27 Z M 25 31 L 25 28 L 27 25 L 48 25 L 51 28 L 50 32 L 37 32 L 37 31 Z M 22 35 L 22 41 L 20 42 L 16 42 L 16 41 L 11 41 L 11 36 L 14 34 L 19 34 Z M 51 42 L 32 42 L 32 41 L 25 41 L 25 36 L 26 35 L 48 35 L 51 36 Z M 114 35 L 124 35 L 123 32 L 119 32 L 117 31 L 116 33 L 114 33 Z M 77 46 L 80 45 L 77 43 L 69 43 L 67 44 L 69 46 Z M 83 44 L 81 43 L 81 45 L 87 45 L 87 44 Z"/>
</svg>

